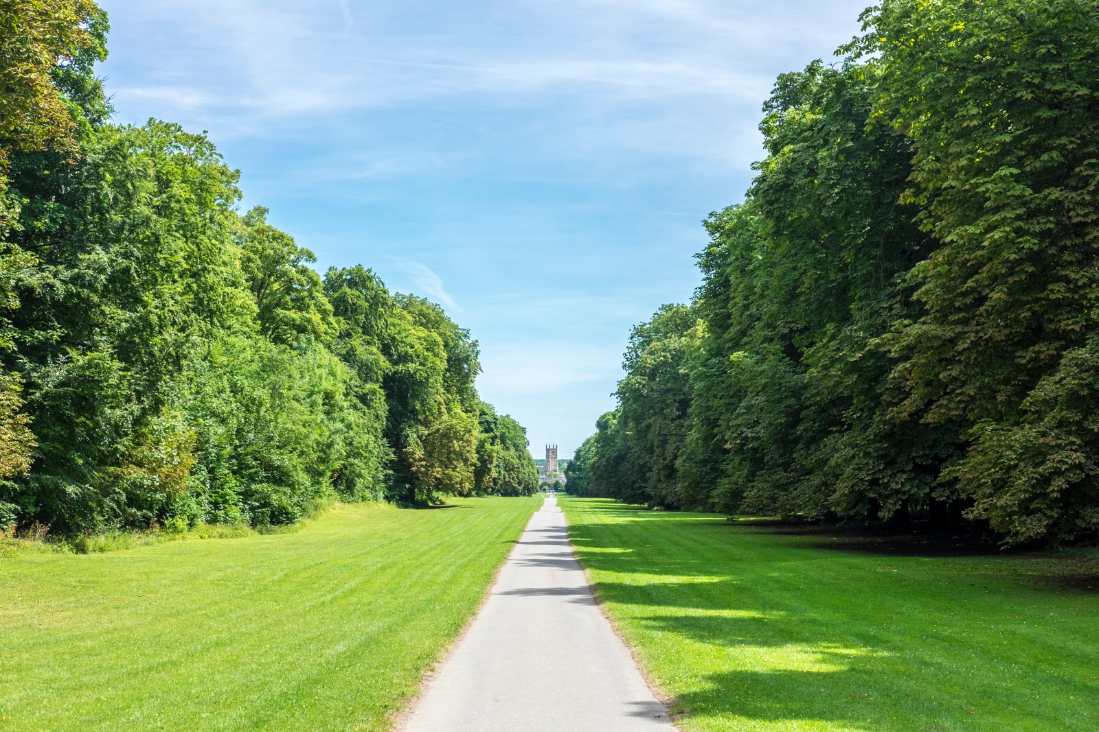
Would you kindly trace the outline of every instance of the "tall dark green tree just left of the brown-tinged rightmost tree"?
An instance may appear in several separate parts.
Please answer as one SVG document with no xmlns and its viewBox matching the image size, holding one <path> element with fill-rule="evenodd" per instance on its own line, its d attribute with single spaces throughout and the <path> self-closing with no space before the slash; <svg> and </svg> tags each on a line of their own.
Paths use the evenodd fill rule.
<svg viewBox="0 0 1099 732">
<path fill-rule="evenodd" d="M 854 65 L 781 75 L 747 199 L 708 222 L 686 504 L 889 518 L 933 499 L 951 432 L 896 417 L 875 346 L 913 312 L 904 273 L 932 248 L 897 204 L 908 138 L 868 124 L 876 85 Z"/>
</svg>

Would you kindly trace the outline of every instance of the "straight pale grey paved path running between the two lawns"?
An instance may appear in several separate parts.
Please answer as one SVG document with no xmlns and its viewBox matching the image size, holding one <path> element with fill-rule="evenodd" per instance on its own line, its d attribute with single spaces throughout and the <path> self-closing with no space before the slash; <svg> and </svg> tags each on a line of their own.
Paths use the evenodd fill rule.
<svg viewBox="0 0 1099 732">
<path fill-rule="evenodd" d="M 673 729 L 596 607 L 551 496 L 404 732 Z"/>
</svg>

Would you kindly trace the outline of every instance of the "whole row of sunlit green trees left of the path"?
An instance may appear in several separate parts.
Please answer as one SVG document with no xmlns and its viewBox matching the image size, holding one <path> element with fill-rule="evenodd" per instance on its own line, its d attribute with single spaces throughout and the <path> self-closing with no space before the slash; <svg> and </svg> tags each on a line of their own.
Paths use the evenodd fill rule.
<svg viewBox="0 0 1099 732">
<path fill-rule="evenodd" d="M 237 211 L 203 135 L 110 122 L 91 0 L 0 5 L 0 525 L 289 522 L 537 487 L 469 333 Z"/>
</svg>

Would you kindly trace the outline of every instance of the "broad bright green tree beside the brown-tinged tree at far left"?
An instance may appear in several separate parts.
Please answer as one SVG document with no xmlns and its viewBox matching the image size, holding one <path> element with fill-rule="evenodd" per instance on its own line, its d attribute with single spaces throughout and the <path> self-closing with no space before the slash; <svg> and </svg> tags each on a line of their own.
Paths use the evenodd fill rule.
<svg viewBox="0 0 1099 732">
<path fill-rule="evenodd" d="M 191 459 L 186 435 L 157 426 L 178 424 L 174 375 L 253 312 L 232 243 L 236 173 L 204 137 L 153 122 L 97 127 L 82 144 L 78 165 L 12 160 L 18 243 L 40 260 L 12 316 L 9 363 L 38 438 L 13 503 L 58 530 L 136 520 L 135 486 L 156 480 L 134 477 L 142 455 Z"/>
</svg>

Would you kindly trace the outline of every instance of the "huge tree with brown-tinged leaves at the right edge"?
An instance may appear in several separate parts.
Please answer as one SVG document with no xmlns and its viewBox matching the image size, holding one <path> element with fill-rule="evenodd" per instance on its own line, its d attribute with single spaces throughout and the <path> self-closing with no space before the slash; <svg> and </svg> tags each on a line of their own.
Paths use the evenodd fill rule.
<svg viewBox="0 0 1099 732">
<path fill-rule="evenodd" d="M 903 408 L 973 426 L 950 471 L 970 517 L 1012 542 L 1095 536 L 1094 412 L 1068 390 L 1097 335 L 1099 9 L 886 0 L 864 22 L 852 49 L 912 139 L 906 200 L 942 243 L 913 272 L 925 312 L 891 340 Z"/>
</svg>

